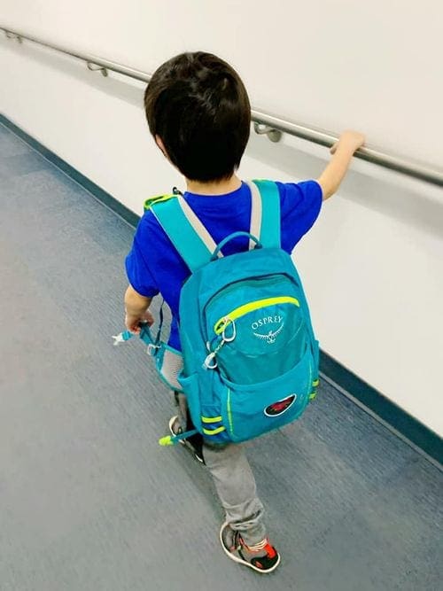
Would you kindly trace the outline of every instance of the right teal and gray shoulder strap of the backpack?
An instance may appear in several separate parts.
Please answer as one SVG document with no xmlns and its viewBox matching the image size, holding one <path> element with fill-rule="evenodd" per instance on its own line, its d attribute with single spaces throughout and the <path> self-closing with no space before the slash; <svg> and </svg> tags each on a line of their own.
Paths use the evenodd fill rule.
<svg viewBox="0 0 443 591">
<path fill-rule="evenodd" d="M 247 184 L 251 190 L 251 234 L 264 248 L 280 248 L 280 192 L 276 183 L 254 180 Z M 253 246 L 251 242 L 250 248 Z"/>
</svg>

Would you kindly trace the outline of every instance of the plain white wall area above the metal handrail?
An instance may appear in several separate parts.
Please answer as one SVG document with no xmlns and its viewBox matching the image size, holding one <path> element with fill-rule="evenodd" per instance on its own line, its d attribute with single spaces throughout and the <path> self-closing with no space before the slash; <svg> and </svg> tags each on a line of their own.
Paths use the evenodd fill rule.
<svg viewBox="0 0 443 591">
<path fill-rule="evenodd" d="M 5 26 L 147 72 L 180 51 L 214 51 L 237 67 L 263 110 L 335 131 L 363 128 L 375 147 L 443 162 L 439 0 L 0 5 Z"/>
</svg>

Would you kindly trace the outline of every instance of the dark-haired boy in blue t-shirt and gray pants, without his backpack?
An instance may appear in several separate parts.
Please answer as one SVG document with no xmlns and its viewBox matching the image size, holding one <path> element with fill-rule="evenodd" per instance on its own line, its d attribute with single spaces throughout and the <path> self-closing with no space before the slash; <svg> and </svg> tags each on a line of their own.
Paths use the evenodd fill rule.
<svg viewBox="0 0 443 591">
<path fill-rule="evenodd" d="M 235 231 L 249 231 L 251 193 L 236 172 L 249 138 L 251 105 L 233 68 L 204 52 L 172 58 L 153 74 L 144 107 L 156 144 L 185 177 L 187 191 L 183 197 L 215 243 Z M 360 133 L 347 131 L 331 149 L 333 157 L 318 181 L 278 183 L 282 248 L 287 253 L 315 222 L 322 200 L 337 191 L 354 152 L 363 142 Z M 226 245 L 223 253 L 238 253 L 248 247 L 247 238 L 238 237 Z M 160 292 L 173 315 L 169 345 L 180 352 L 179 298 L 190 270 L 150 211 L 138 224 L 126 268 L 128 330 L 137 332 L 142 320 L 153 322 L 148 308 Z M 166 364 L 169 381 L 174 384 L 179 362 L 172 355 Z M 175 394 L 180 416 L 173 417 L 169 426 L 177 434 L 190 427 L 190 419 L 185 397 Z M 262 521 L 263 505 L 243 446 L 214 447 L 199 435 L 185 441 L 185 445 L 206 463 L 214 477 L 226 512 L 220 532 L 223 550 L 232 560 L 255 571 L 275 570 L 280 556 L 269 543 Z"/>
</svg>

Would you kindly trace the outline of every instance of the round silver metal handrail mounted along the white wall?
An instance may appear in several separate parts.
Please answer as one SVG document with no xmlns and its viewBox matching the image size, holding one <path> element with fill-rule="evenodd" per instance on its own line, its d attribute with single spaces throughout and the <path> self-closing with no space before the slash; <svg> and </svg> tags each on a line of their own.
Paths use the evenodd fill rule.
<svg viewBox="0 0 443 591">
<path fill-rule="evenodd" d="M 149 82 L 152 77 L 150 74 L 146 74 L 141 70 L 117 64 L 109 59 L 98 58 L 89 53 L 79 53 L 78 51 L 68 50 L 55 43 L 47 43 L 41 39 L 37 39 L 31 35 L 25 35 L 10 28 L 0 27 L 0 29 L 4 31 L 9 39 L 17 39 L 19 43 L 22 43 L 23 39 L 26 39 L 32 43 L 38 43 L 39 45 L 43 45 L 43 47 L 48 47 L 51 50 L 64 53 L 72 58 L 81 59 L 86 62 L 89 69 L 100 70 L 104 75 L 107 75 L 107 71 L 109 70 L 141 82 Z M 322 129 L 307 127 L 306 125 L 295 123 L 294 121 L 285 121 L 276 115 L 263 113 L 256 109 L 251 111 L 251 116 L 256 133 L 266 134 L 269 139 L 274 142 L 280 139 L 282 132 L 327 147 L 331 147 L 338 140 L 338 136 L 334 136 Z M 380 167 L 395 170 L 404 175 L 426 181 L 427 183 L 443 186 L 443 170 L 432 169 L 419 162 L 413 162 L 411 160 L 399 158 L 398 156 L 378 152 L 372 148 L 360 148 L 354 155 L 357 158 L 366 160 L 372 164 L 377 164 Z"/>
</svg>

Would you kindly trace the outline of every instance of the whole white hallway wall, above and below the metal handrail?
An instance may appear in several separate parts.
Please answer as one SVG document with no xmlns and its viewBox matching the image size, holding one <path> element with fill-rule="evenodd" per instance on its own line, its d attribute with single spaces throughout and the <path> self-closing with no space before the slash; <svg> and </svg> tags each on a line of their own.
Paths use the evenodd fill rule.
<svg viewBox="0 0 443 591">
<path fill-rule="evenodd" d="M 361 128 L 385 152 L 443 162 L 437 2 L 284 0 L 270 18 L 251 0 L 2 4 L 4 26 L 148 72 L 178 51 L 218 52 L 256 107 Z M 142 85 L 5 39 L 0 68 L 1 111 L 134 211 L 180 184 L 147 133 Z M 315 177 L 327 156 L 289 136 L 253 136 L 242 174 Z M 323 349 L 442 433 L 442 191 L 355 161 L 296 260 Z"/>
</svg>

